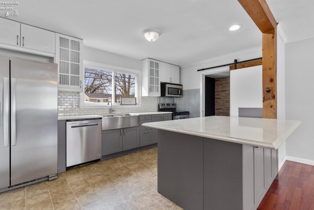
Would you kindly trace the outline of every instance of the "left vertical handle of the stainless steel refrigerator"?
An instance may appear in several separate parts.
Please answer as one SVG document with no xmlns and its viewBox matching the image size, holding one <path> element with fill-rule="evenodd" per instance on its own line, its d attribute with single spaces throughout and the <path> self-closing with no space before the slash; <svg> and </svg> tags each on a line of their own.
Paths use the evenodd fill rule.
<svg viewBox="0 0 314 210">
<path fill-rule="evenodd" d="M 9 146 L 9 78 L 3 78 L 3 141 Z"/>
</svg>

